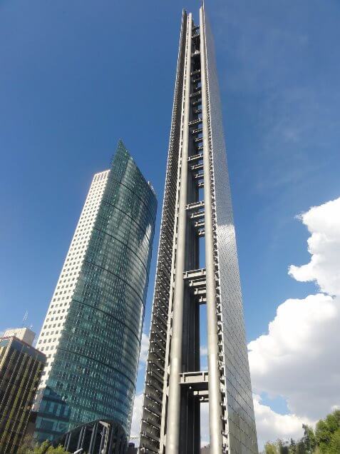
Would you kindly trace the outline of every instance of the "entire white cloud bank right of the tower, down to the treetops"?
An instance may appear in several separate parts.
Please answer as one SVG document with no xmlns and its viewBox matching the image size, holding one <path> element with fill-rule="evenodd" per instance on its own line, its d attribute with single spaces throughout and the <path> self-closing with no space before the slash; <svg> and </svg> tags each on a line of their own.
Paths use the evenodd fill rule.
<svg viewBox="0 0 340 454">
<path fill-rule="evenodd" d="M 260 446 L 264 440 L 299 438 L 302 423 L 340 405 L 340 198 L 299 218 L 311 233 L 311 260 L 290 266 L 289 274 L 314 281 L 323 293 L 284 301 L 268 333 L 248 345 L 254 390 L 283 396 L 291 412 L 279 415 L 255 396 Z"/>
</svg>

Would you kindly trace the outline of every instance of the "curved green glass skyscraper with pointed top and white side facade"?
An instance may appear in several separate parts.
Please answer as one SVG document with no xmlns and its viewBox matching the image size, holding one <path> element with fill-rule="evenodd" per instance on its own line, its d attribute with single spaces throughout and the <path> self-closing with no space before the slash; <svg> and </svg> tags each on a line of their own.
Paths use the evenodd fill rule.
<svg viewBox="0 0 340 454">
<path fill-rule="evenodd" d="M 123 143 L 93 177 L 43 323 L 35 438 L 93 420 L 130 432 L 157 200 Z"/>
</svg>

